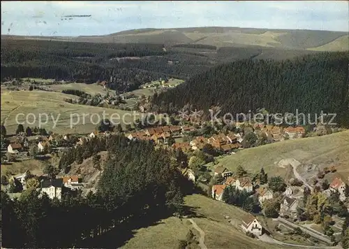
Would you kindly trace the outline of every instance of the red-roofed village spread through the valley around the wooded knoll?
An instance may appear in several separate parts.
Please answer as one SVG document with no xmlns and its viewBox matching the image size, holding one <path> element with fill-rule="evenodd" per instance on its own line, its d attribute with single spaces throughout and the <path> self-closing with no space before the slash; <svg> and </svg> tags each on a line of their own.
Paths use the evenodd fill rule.
<svg viewBox="0 0 349 249">
<path fill-rule="evenodd" d="M 242 223 L 242 231 L 249 236 L 265 239 L 263 234 L 266 230 L 267 233 L 270 232 L 270 228 L 265 227 L 265 220 L 260 222 L 260 215 L 273 219 L 273 225 L 276 224 L 273 227 L 274 232 L 282 234 L 281 230 L 284 230 L 284 233 L 287 234 L 298 227 L 304 234 L 309 234 L 312 238 L 316 238 L 325 244 L 332 244 L 336 240 L 336 235 L 341 232 L 340 224 L 343 222 L 343 217 L 340 217 L 340 212 L 343 213 L 344 211 L 336 211 L 333 219 L 331 217 L 329 219 L 328 215 L 325 215 L 327 219 L 327 225 L 324 228 L 325 234 L 317 232 L 311 225 L 304 223 L 306 220 L 315 219 L 314 215 L 309 214 L 307 209 L 309 204 L 304 199 L 310 197 L 326 198 L 331 201 L 335 199 L 337 203 L 348 206 L 346 200 L 348 199 L 349 179 L 334 178 L 331 183 L 321 180 L 325 174 L 335 172 L 334 167 L 319 172 L 318 182 L 312 186 L 297 178 L 288 181 L 281 177 L 268 179 L 267 174 L 262 170 L 259 176 L 253 176 L 244 169 L 232 172 L 221 164 L 214 164 L 213 169 L 205 167 L 207 162 L 214 162 L 218 155 L 223 157 L 234 155 L 239 153 L 239 150 L 250 148 L 252 145 L 257 146 L 285 139 L 302 138 L 306 135 L 304 127 L 236 123 L 232 129 L 217 130 L 207 124 L 199 126 L 187 123 L 186 125 L 149 127 L 132 132 L 124 132 L 120 129 L 116 131 L 115 128 L 111 131 L 98 131 L 96 129 L 96 131 L 84 136 L 61 135 L 52 132 L 44 135 L 45 131 L 42 129 L 35 128 L 33 131 L 28 129 L 30 128 L 24 131 L 24 127 L 20 127 L 16 136 L 6 138 L 8 145 L 3 146 L 7 149 L 6 155 L 2 157 L 4 163 L 28 158 L 42 158 L 45 160 L 47 157 L 52 157 L 52 155 L 59 157 L 70 148 L 84 146 L 87 141 L 95 138 L 107 139 L 108 136 L 113 134 L 124 134 L 130 141 L 150 141 L 156 147 L 160 146 L 173 152 L 183 153 L 185 159 L 183 159 L 182 167 L 179 170 L 193 183 L 208 186 L 211 198 L 236 205 L 237 200 L 230 199 L 232 198 L 230 194 L 234 195 L 232 194 L 234 192 L 237 195 L 243 193 L 245 201 L 246 199 L 253 199 L 255 201 L 253 205 L 258 206 L 257 211 L 253 211 L 252 208 L 250 210 L 251 215 L 248 215 Z M 37 135 L 34 135 L 34 133 L 37 133 Z M 261 140 L 265 143 L 258 144 L 258 141 Z M 3 152 L 5 151 L 3 150 Z M 103 167 L 99 169 L 98 174 L 102 171 Z M 1 176 L 1 185 L 6 185 L 6 191 L 13 194 L 12 198 L 18 197 L 20 192 L 28 187 L 33 187 L 33 185 L 36 190 L 40 191 L 41 194 L 47 194 L 50 199 L 62 199 L 64 194 L 77 196 L 77 194 L 92 190 L 91 186 L 87 187 L 89 179 L 79 174 L 70 174 L 66 171 L 56 172 L 53 177 L 50 174 L 52 174 L 52 171 L 35 176 L 30 171 L 25 171 L 8 178 Z M 274 183 L 272 183 L 273 181 Z M 321 197 L 318 197 L 317 194 L 321 194 Z M 245 208 L 244 204 L 237 206 Z M 313 222 L 313 225 L 322 224 L 323 220 L 322 217 L 320 220 Z"/>
</svg>

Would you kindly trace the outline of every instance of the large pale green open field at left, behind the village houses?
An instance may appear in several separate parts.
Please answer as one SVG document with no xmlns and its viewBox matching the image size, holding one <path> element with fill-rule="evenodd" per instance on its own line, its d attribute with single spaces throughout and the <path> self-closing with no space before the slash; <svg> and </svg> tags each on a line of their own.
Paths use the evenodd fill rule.
<svg viewBox="0 0 349 249">
<path fill-rule="evenodd" d="M 62 94 L 59 92 L 44 92 L 44 91 L 7 91 L 1 90 L 1 123 L 5 122 L 8 134 L 13 134 L 17 129 L 16 116 L 18 122 L 25 122 L 28 113 L 27 121 L 23 124 L 24 127 L 38 127 L 39 114 L 47 113 L 49 119 L 46 120 L 45 115 L 41 115 L 43 128 L 47 131 L 54 131 L 59 134 L 75 134 L 89 133 L 96 129 L 98 119 L 105 118 L 114 122 L 121 120 L 121 125 L 124 126 L 124 121 L 130 122 L 133 120 L 133 115 L 138 118 L 137 113 L 121 111 L 118 109 L 101 108 L 96 106 L 86 106 L 78 104 L 70 104 L 64 101 L 65 98 L 74 98 L 73 95 Z M 127 113 L 127 115 L 125 115 Z M 34 116 L 36 117 L 34 120 Z M 71 117 L 71 119 L 70 119 Z M 55 121 L 53 121 L 55 120 Z M 78 122 L 80 120 L 80 122 Z M 35 121 L 35 122 L 34 122 Z M 47 123 L 45 123 L 47 121 Z M 57 121 L 57 126 L 54 127 L 54 122 Z M 100 120 L 101 121 L 101 120 Z M 70 128 L 70 122 L 73 128 Z M 74 125 L 76 123 L 76 125 Z"/>
</svg>

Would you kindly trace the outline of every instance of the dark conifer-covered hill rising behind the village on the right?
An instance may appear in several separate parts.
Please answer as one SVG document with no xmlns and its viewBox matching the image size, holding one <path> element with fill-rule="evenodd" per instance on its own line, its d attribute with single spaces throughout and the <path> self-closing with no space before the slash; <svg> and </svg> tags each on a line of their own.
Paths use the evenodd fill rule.
<svg viewBox="0 0 349 249">
<path fill-rule="evenodd" d="M 216 66 L 154 96 L 153 108 L 171 112 L 172 106 L 189 104 L 207 111 L 220 106 L 221 113 L 262 107 L 269 113 L 295 113 L 297 108 L 303 113 L 337 113 L 337 121 L 348 125 L 348 64 L 349 52 L 325 52 L 281 62 L 239 60 Z"/>
</svg>

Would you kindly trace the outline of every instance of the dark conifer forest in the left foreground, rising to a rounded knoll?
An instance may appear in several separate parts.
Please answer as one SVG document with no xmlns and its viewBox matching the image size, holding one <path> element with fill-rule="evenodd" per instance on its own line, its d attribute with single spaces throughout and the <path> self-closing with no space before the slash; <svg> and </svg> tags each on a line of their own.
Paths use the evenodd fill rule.
<svg viewBox="0 0 349 249">
<path fill-rule="evenodd" d="M 183 197 L 193 185 L 181 175 L 170 152 L 155 150 L 149 142 L 112 136 L 107 143 L 94 141 L 94 146 L 86 145 L 74 153 L 105 147 L 109 160 L 97 192 L 87 197 L 65 194 L 58 201 L 26 190 L 20 199 L 11 200 L 1 191 L 1 246 L 117 248 L 129 239 L 135 226 L 147 227 L 181 212 Z M 73 154 L 70 156 L 77 157 Z"/>
</svg>

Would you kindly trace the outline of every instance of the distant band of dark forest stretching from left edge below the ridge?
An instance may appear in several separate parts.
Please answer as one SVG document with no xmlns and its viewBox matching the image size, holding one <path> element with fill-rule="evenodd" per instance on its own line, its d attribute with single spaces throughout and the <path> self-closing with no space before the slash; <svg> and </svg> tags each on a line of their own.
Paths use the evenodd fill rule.
<svg viewBox="0 0 349 249">
<path fill-rule="evenodd" d="M 202 44 L 82 43 L 1 38 L 1 80 L 45 78 L 96 83 L 121 92 L 159 78 L 188 79 L 216 64 L 258 56 L 291 58 L 312 53 L 246 47 L 218 48 Z"/>
</svg>

